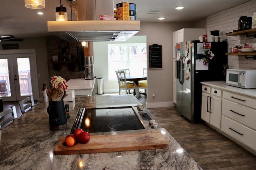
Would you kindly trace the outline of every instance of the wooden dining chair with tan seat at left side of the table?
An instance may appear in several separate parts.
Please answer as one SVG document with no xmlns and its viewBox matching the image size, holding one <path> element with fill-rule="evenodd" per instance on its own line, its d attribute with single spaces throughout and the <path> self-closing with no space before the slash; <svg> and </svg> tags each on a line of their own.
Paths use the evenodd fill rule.
<svg viewBox="0 0 256 170">
<path fill-rule="evenodd" d="M 129 90 L 136 89 L 136 84 L 133 81 L 126 81 L 126 74 L 124 71 L 115 71 L 118 80 L 119 95 L 121 90 L 125 91 L 125 94 L 129 94 Z"/>
</svg>

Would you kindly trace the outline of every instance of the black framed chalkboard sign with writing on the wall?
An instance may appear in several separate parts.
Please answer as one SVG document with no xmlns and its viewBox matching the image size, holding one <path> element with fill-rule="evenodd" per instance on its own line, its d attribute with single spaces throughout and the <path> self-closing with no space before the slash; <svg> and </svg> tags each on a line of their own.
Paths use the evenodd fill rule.
<svg viewBox="0 0 256 170">
<path fill-rule="evenodd" d="M 148 69 L 162 69 L 162 45 L 149 45 L 149 67 Z"/>
</svg>

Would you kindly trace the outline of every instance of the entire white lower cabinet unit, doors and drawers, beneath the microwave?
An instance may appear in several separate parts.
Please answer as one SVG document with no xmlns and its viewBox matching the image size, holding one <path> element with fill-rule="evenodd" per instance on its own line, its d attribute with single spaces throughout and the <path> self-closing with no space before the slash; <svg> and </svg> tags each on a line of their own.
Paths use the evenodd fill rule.
<svg viewBox="0 0 256 170">
<path fill-rule="evenodd" d="M 242 93 L 246 89 L 234 93 L 234 87 L 230 91 L 226 85 L 202 84 L 201 119 L 255 154 L 256 96 Z"/>
</svg>

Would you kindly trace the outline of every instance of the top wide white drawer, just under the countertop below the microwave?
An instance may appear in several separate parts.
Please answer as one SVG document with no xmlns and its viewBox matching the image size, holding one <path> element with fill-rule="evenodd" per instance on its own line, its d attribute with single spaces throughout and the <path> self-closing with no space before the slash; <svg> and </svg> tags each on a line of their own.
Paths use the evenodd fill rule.
<svg viewBox="0 0 256 170">
<path fill-rule="evenodd" d="M 222 92 L 222 97 L 224 99 L 228 99 L 230 101 L 234 101 L 236 103 L 240 103 L 242 105 L 246 105 L 248 107 L 252 107 L 252 108 L 256 109 L 256 99 L 252 99 L 250 97 L 238 95 L 235 93 L 229 93 L 227 91 Z"/>
</svg>

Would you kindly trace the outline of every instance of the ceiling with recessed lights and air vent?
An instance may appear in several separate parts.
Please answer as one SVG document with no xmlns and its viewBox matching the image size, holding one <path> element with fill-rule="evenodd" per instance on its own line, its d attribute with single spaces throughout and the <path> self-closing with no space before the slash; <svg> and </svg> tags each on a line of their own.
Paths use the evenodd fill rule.
<svg viewBox="0 0 256 170">
<path fill-rule="evenodd" d="M 122 0 L 114 0 L 114 4 Z M 135 3 L 137 20 L 140 22 L 192 22 L 211 14 L 232 8 L 249 0 L 128 0 Z M 31 38 L 50 36 L 47 32 L 47 21 L 55 21 L 56 7 L 60 0 L 45 0 L 44 9 L 25 8 L 24 0 L 1 0 L 0 36 L 13 35 L 15 38 Z M 68 20 L 71 20 L 70 1 L 62 0 L 67 8 Z M 175 10 L 174 6 L 185 6 L 183 10 Z M 115 5 L 114 5 L 115 6 Z M 38 15 L 37 12 L 43 12 Z M 158 14 L 147 14 L 159 11 Z M 166 17 L 158 20 L 158 17 Z M 72 15 L 72 20 L 76 17 Z"/>
</svg>

